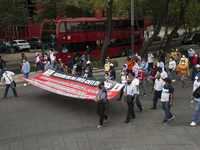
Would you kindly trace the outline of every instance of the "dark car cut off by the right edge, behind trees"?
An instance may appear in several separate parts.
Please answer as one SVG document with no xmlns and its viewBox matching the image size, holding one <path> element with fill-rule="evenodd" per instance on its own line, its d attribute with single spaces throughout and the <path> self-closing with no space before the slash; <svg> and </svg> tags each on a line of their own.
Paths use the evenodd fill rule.
<svg viewBox="0 0 200 150">
<path fill-rule="evenodd" d="M 200 42 L 200 33 L 187 34 L 182 40 L 182 44 L 194 44 Z"/>
</svg>

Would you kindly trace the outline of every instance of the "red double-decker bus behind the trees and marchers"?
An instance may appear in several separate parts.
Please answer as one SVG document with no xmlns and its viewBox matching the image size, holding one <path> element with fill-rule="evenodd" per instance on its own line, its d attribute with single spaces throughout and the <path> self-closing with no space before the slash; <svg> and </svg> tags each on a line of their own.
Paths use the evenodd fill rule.
<svg viewBox="0 0 200 150">
<path fill-rule="evenodd" d="M 138 20 L 144 33 L 143 20 Z M 113 31 L 107 49 L 107 56 L 125 56 L 131 47 L 131 20 L 113 19 Z M 41 27 L 42 51 L 53 49 L 57 58 L 67 64 L 68 56 L 77 60 L 86 53 L 86 45 L 92 49 L 91 59 L 99 59 L 106 32 L 106 20 L 97 18 L 68 18 L 66 20 L 45 21 Z M 135 26 L 135 52 L 139 52 L 143 40 Z"/>
</svg>

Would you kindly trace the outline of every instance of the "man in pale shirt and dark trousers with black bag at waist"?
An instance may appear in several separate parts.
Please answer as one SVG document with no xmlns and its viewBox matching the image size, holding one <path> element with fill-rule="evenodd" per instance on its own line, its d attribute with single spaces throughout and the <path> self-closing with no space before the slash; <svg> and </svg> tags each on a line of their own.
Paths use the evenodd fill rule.
<svg viewBox="0 0 200 150">
<path fill-rule="evenodd" d="M 137 89 L 135 86 L 132 86 L 131 82 L 132 82 L 131 78 L 128 78 L 127 84 L 125 85 L 125 88 L 124 88 L 124 95 L 122 98 L 122 103 L 124 102 L 124 99 L 125 99 L 128 105 L 128 113 L 127 113 L 125 123 L 129 123 L 130 117 L 135 118 L 133 104 L 136 102 Z"/>
</svg>

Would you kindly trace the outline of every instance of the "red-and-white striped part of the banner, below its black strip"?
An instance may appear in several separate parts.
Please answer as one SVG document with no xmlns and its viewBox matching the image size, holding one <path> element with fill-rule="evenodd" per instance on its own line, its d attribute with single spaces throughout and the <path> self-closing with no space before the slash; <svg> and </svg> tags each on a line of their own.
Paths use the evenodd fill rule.
<svg viewBox="0 0 200 150">
<path fill-rule="evenodd" d="M 70 80 L 55 78 L 45 73 L 38 75 L 37 77 L 34 78 L 26 78 L 26 79 L 19 78 L 19 79 L 24 80 L 36 87 L 42 88 L 44 90 L 59 95 L 79 98 L 79 99 L 94 100 L 98 92 L 98 87 L 88 86 Z M 119 86 L 120 85 L 121 84 L 119 84 Z M 116 90 L 116 88 L 118 89 Z M 112 90 L 107 90 L 108 99 L 114 98 L 119 93 L 121 88 L 119 89 L 118 86 L 116 88 Z"/>
</svg>

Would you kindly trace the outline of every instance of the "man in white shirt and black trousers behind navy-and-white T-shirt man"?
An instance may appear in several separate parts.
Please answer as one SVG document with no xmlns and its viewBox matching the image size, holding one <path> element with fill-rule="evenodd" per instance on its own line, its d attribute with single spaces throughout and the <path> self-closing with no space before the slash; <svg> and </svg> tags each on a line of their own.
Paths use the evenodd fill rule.
<svg viewBox="0 0 200 150">
<path fill-rule="evenodd" d="M 161 98 L 163 87 L 164 87 L 164 82 L 160 78 L 160 73 L 157 73 L 156 80 L 153 87 L 154 98 L 153 98 L 153 107 L 151 108 L 152 110 L 156 109 L 158 98 L 159 99 Z"/>
</svg>

